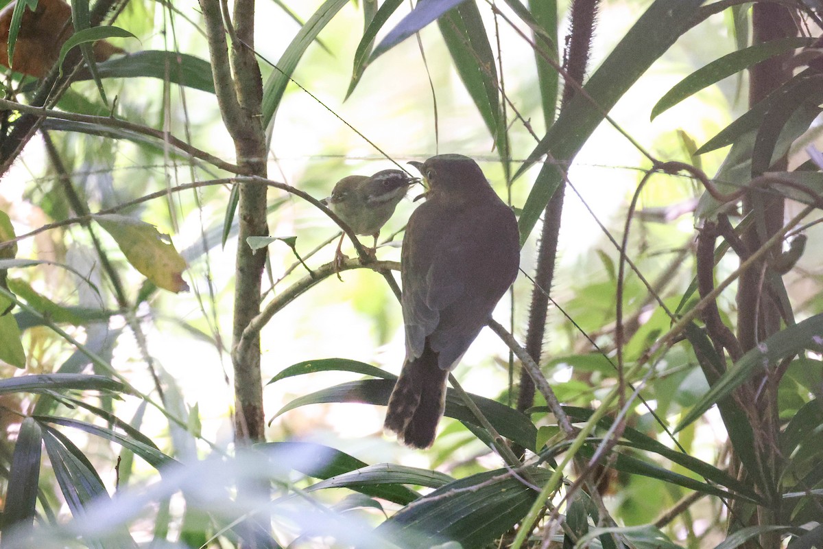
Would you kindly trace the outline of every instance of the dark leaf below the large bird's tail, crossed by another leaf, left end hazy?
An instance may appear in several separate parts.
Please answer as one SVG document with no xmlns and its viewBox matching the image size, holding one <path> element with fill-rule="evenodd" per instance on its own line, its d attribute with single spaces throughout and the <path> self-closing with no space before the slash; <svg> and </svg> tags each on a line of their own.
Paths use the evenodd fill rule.
<svg viewBox="0 0 823 549">
<path fill-rule="evenodd" d="M 338 477 L 347 472 L 369 466 L 368 463 L 360 461 L 360 459 L 341 452 L 338 449 L 323 446 L 322 444 L 314 444 L 312 442 L 270 442 L 267 444 L 256 444 L 254 447 L 263 450 L 268 448 L 276 450 L 285 449 L 287 453 L 299 452 L 300 455 L 309 456 L 308 459 L 303 459 L 299 463 L 293 463 L 295 470 L 309 477 L 322 480 Z M 365 495 L 393 501 L 399 505 L 407 505 L 420 497 L 420 494 L 416 491 L 413 491 L 407 486 L 402 486 L 402 484 L 399 483 L 393 484 L 386 482 L 376 485 L 353 483 L 346 487 Z M 313 487 L 312 489 L 317 490 L 318 488 Z"/>
</svg>

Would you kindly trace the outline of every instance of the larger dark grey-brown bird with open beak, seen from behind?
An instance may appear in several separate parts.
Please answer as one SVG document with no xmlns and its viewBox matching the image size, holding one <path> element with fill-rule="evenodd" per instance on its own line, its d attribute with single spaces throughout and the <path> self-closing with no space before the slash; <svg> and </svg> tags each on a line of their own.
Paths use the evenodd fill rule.
<svg viewBox="0 0 823 549">
<path fill-rule="evenodd" d="M 443 415 L 446 379 L 517 277 L 517 220 L 477 162 L 463 155 L 409 162 L 428 182 L 401 253 L 406 361 L 384 427 L 427 448 Z"/>
</svg>

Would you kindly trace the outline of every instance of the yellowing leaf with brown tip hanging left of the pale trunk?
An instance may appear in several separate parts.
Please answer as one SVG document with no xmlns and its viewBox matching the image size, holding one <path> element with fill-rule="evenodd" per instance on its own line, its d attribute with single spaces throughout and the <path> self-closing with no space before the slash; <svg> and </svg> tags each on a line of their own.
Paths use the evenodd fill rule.
<svg viewBox="0 0 823 549">
<path fill-rule="evenodd" d="M 128 263 L 155 286 L 174 292 L 188 290 L 182 276 L 186 261 L 174 249 L 169 235 L 161 234 L 155 226 L 144 221 L 126 216 L 95 216 L 95 221 L 117 241 Z"/>
</svg>

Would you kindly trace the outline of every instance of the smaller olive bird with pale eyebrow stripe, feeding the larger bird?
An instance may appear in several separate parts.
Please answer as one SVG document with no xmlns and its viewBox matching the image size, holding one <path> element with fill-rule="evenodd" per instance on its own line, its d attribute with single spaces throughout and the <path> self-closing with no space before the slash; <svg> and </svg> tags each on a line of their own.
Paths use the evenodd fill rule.
<svg viewBox="0 0 823 549">
<path fill-rule="evenodd" d="M 374 236 L 374 250 L 377 249 L 380 228 L 392 216 L 394 208 L 406 196 L 408 188 L 419 181 L 420 179 L 413 178 L 402 170 L 382 170 L 370 177 L 349 175 L 338 181 L 331 196 L 320 202 L 337 214 L 357 235 Z M 338 268 L 345 257 L 340 251 L 344 236 L 341 235 L 334 256 Z M 338 273 L 337 277 L 339 276 Z"/>
</svg>

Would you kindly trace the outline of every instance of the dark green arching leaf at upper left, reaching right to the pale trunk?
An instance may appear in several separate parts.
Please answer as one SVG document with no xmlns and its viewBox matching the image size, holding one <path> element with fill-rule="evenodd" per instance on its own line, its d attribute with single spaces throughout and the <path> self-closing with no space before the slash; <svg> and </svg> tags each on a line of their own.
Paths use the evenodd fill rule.
<svg viewBox="0 0 823 549">
<path fill-rule="evenodd" d="M 159 78 L 214 93 L 212 65 L 205 59 L 179 52 L 150 49 L 109 58 L 97 63 L 97 74 L 100 78 Z M 83 68 L 76 79 L 89 80 L 91 73 Z"/>
</svg>

